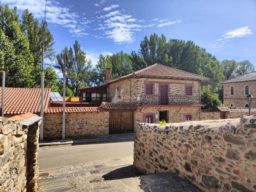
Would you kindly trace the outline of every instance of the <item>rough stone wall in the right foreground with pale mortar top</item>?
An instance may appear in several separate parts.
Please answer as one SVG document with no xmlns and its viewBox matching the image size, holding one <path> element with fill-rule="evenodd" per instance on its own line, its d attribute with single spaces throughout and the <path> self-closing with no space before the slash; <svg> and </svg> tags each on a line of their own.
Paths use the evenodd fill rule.
<svg viewBox="0 0 256 192">
<path fill-rule="evenodd" d="M 167 126 L 141 123 L 134 165 L 144 173 L 175 172 L 204 191 L 255 191 L 255 146 L 256 116 Z"/>
</svg>

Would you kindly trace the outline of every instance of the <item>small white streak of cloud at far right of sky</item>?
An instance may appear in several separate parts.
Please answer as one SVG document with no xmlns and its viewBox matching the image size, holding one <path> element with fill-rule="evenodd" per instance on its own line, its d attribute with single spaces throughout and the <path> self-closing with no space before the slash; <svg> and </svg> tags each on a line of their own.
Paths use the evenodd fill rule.
<svg viewBox="0 0 256 192">
<path fill-rule="evenodd" d="M 249 29 L 249 26 L 245 26 L 245 27 L 240 27 L 238 29 L 229 30 L 229 31 L 225 32 L 225 34 L 222 35 L 221 38 L 217 39 L 216 41 L 244 37 L 244 36 L 252 35 L 252 34 L 253 34 L 252 30 Z"/>
</svg>

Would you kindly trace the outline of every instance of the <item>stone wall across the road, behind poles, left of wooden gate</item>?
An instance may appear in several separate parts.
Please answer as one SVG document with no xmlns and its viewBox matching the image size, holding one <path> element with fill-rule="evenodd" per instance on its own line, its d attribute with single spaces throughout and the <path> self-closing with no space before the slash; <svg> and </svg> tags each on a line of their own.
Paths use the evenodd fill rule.
<svg viewBox="0 0 256 192">
<path fill-rule="evenodd" d="M 81 138 L 109 134 L 109 112 L 73 112 L 66 113 L 66 137 Z M 62 138 L 62 114 L 44 115 L 43 137 L 45 139 Z"/>
</svg>

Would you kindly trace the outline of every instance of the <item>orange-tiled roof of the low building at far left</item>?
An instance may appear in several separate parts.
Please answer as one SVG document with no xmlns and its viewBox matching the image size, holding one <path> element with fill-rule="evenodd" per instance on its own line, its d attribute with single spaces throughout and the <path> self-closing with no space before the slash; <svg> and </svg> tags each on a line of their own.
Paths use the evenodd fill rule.
<svg viewBox="0 0 256 192">
<path fill-rule="evenodd" d="M 50 101 L 50 88 L 44 89 L 44 109 Z M 40 88 L 5 88 L 4 114 L 39 113 L 41 104 Z M 0 87 L 0 106 L 2 103 L 2 88 Z"/>
</svg>

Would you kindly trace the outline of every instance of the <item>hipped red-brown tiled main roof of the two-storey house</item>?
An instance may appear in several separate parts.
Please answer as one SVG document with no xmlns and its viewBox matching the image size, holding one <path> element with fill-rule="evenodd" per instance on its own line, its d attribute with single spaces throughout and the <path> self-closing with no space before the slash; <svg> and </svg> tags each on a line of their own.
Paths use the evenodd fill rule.
<svg viewBox="0 0 256 192">
<path fill-rule="evenodd" d="M 135 71 L 134 73 L 130 73 L 125 76 L 121 76 L 116 80 L 112 80 L 110 83 L 126 78 L 132 77 L 146 77 L 146 78 L 169 78 L 169 79 L 181 79 L 181 80 L 198 80 L 204 81 L 209 80 L 204 76 L 196 75 L 193 73 L 189 73 L 187 71 L 177 70 L 175 68 L 171 68 L 170 66 L 161 65 L 155 63 L 154 65 L 150 65 L 147 68 L 144 68 L 139 71 Z"/>
</svg>

